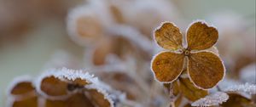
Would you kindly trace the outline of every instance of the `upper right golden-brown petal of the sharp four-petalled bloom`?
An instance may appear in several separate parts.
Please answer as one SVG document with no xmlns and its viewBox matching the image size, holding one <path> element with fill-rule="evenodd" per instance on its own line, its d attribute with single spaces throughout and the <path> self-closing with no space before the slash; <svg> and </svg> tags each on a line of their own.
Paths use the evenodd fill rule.
<svg viewBox="0 0 256 107">
<path fill-rule="evenodd" d="M 217 40 L 217 29 L 201 21 L 193 23 L 187 31 L 188 48 L 191 50 L 211 48 Z"/>
</svg>

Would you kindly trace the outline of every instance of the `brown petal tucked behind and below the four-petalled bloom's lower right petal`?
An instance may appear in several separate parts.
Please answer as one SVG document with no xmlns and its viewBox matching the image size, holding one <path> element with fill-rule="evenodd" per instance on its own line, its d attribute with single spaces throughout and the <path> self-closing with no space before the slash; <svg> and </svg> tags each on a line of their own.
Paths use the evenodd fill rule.
<svg viewBox="0 0 256 107">
<path fill-rule="evenodd" d="M 208 92 L 195 87 L 194 84 L 189 81 L 189 78 L 180 78 L 178 80 L 180 92 L 190 101 L 195 101 L 207 96 Z"/>
</svg>

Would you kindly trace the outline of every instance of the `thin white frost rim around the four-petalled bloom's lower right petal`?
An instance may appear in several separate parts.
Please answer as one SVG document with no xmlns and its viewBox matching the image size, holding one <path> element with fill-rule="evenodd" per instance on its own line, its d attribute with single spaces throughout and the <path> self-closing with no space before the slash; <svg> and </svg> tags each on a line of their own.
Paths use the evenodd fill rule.
<svg viewBox="0 0 256 107">
<path fill-rule="evenodd" d="M 213 53 L 212 51 L 207 51 L 207 50 L 201 50 L 201 51 L 198 51 L 196 53 L 201 53 L 201 52 L 208 52 L 208 53 Z M 218 56 L 218 54 L 216 53 L 213 53 L 215 54 L 216 56 Z M 220 59 L 220 57 L 218 56 L 218 59 Z M 222 59 L 220 59 L 222 65 L 224 66 L 224 61 Z M 209 90 L 209 89 L 212 89 L 213 87 L 211 88 L 203 88 L 203 87 L 199 87 L 195 84 L 195 82 L 191 79 L 190 75 L 189 75 L 189 61 L 187 62 L 187 70 L 188 70 L 188 76 L 189 76 L 189 80 L 190 82 L 192 82 L 194 84 L 195 87 L 199 88 L 199 89 L 202 89 L 202 90 Z M 216 85 L 218 85 L 219 82 L 222 82 L 224 80 L 224 77 L 226 76 L 226 68 L 224 66 L 224 75 L 222 76 L 222 78 L 216 83 Z M 215 85 L 215 86 L 216 86 Z"/>
</svg>

